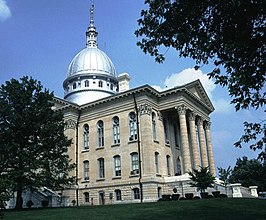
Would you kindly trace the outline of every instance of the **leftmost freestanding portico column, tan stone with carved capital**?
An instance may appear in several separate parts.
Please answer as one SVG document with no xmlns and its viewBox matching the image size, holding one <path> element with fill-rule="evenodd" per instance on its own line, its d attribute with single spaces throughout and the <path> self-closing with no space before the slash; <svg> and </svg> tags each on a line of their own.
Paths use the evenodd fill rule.
<svg viewBox="0 0 266 220">
<path fill-rule="evenodd" d="M 184 105 L 178 106 L 177 108 L 180 122 L 180 133 L 181 133 L 181 151 L 183 157 L 183 170 L 188 172 L 191 170 L 190 161 L 190 150 L 188 143 L 188 133 L 187 133 L 187 122 L 186 122 L 186 107 Z"/>
</svg>

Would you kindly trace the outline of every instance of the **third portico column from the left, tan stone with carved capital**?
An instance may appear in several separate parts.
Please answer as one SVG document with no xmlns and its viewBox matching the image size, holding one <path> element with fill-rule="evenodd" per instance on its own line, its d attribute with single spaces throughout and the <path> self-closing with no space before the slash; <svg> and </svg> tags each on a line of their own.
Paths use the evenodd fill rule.
<svg viewBox="0 0 266 220">
<path fill-rule="evenodd" d="M 208 167 L 207 149 L 206 149 L 205 135 L 203 129 L 203 121 L 201 118 L 198 118 L 197 125 L 198 125 L 198 134 L 199 134 L 199 143 L 200 143 L 201 166 Z"/>
</svg>

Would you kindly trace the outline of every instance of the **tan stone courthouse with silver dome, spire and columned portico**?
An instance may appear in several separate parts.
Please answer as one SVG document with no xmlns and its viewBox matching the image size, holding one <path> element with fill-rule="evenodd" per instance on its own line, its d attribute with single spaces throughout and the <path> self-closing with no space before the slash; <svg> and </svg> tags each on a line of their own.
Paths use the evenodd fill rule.
<svg viewBox="0 0 266 220">
<path fill-rule="evenodd" d="M 69 204 L 156 201 L 163 194 L 194 192 L 187 171 L 208 166 L 215 175 L 210 136 L 214 107 L 199 80 L 165 91 L 129 88 L 97 46 L 91 7 L 86 48 L 69 65 L 63 111 L 77 182 L 62 194 Z"/>
</svg>

